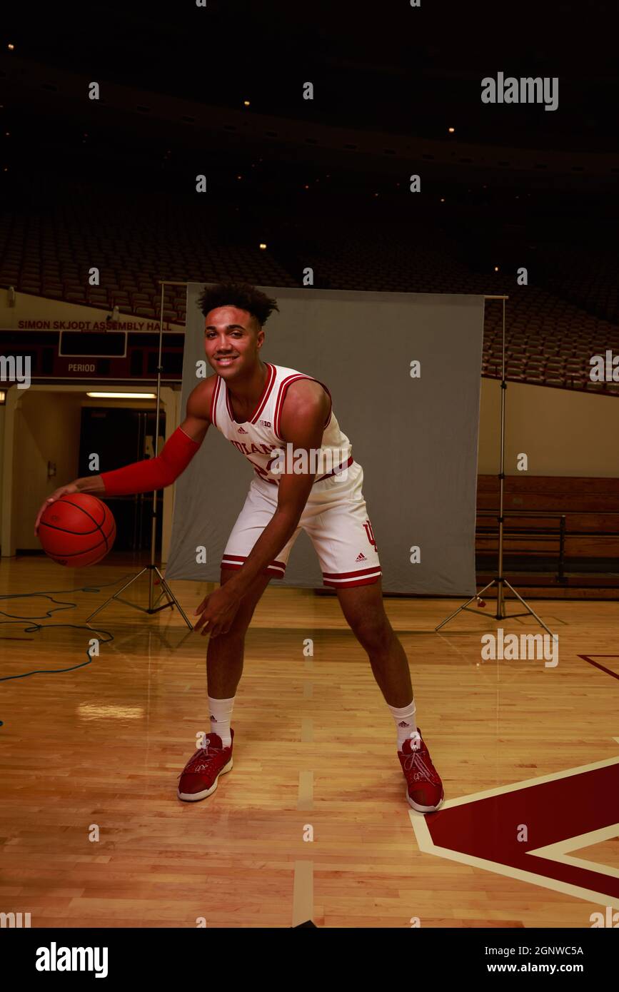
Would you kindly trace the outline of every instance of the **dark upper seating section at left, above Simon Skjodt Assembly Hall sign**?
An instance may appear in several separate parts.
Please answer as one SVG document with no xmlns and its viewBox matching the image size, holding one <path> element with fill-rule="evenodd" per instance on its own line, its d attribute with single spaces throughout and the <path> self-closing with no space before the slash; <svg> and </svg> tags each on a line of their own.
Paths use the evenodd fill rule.
<svg viewBox="0 0 619 992">
<path fill-rule="evenodd" d="M 88 187 L 76 187 L 70 202 L 49 211 L 16 209 L 0 218 L 0 285 L 150 318 L 159 317 L 158 279 L 294 285 L 258 244 L 232 245 L 218 236 L 221 219 L 215 207 L 204 225 L 183 201 L 171 210 L 153 199 L 100 190 L 93 198 Z M 88 286 L 91 266 L 100 270 L 100 286 Z M 165 302 L 165 319 L 184 323 L 183 287 L 167 290 Z"/>
</svg>

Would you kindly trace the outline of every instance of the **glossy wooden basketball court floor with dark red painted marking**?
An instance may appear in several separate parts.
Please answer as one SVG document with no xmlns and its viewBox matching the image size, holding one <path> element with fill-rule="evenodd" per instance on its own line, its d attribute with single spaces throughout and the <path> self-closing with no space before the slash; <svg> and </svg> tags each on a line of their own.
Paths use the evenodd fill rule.
<svg viewBox="0 0 619 992">
<path fill-rule="evenodd" d="M 247 636 L 233 771 L 185 804 L 177 777 L 209 730 L 206 638 L 176 610 L 117 602 L 91 632 L 54 629 L 139 570 L 113 558 L 0 564 L 3 596 L 99 590 L 56 592 L 76 607 L 51 617 L 40 596 L 3 599 L 2 677 L 80 665 L 91 637 L 114 638 L 82 668 L 0 682 L 0 912 L 32 927 L 589 928 L 619 910 L 617 602 L 538 602 L 553 669 L 481 660 L 498 627 L 544 633 L 494 620 L 491 601 L 436 634 L 461 600 L 386 597 L 445 789 L 424 817 L 336 599 L 272 582 Z M 171 584 L 189 616 L 214 588 Z M 124 596 L 146 604 L 147 580 Z"/>
</svg>

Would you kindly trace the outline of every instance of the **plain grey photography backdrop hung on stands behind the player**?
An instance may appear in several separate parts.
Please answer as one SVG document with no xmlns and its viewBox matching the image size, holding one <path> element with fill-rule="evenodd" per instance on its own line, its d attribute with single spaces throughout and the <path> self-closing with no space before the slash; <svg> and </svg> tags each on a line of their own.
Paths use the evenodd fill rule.
<svg viewBox="0 0 619 992">
<path fill-rule="evenodd" d="M 204 359 L 204 317 L 196 305 L 202 289 L 187 286 L 184 416 Z M 383 589 L 472 595 L 483 296 L 260 289 L 280 307 L 265 324 L 261 357 L 328 386 L 335 417 L 363 467 Z M 420 362 L 419 378 L 411 377 L 413 361 Z M 176 483 L 167 579 L 219 581 L 221 555 L 253 475 L 247 459 L 209 428 Z M 200 546 L 205 563 L 196 560 Z M 272 583 L 321 586 L 305 532 L 286 577 Z"/>
</svg>

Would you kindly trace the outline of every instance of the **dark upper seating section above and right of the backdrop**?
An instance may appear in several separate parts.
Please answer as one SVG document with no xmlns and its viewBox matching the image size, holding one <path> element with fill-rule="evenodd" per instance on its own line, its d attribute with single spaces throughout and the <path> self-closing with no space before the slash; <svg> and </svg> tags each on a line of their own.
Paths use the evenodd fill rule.
<svg viewBox="0 0 619 992">
<path fill-rule="evenodd" d="M 442 241 L 442 244 L 441 244 Z M 325 238 L 315 260 L 331 289 L 394 293 L 479 293 L 509 297 L 506 316 L 508 379 L 619 396 L 619 383 L 592 383 L 592 355 L 619 353 L 619 325 L 600 319 L 515 276 L 473 273 L 449 255 L 451 245 L 435 229 L 408 241 L 392 232 L 367 238 L 359 232 Z M 311 263 L 309 263 L 311 264 Z M 488 304 L 484 319 L 483 375 L 500 378 L 502 308 Z"/>
</svg>

